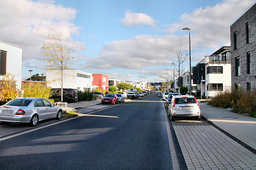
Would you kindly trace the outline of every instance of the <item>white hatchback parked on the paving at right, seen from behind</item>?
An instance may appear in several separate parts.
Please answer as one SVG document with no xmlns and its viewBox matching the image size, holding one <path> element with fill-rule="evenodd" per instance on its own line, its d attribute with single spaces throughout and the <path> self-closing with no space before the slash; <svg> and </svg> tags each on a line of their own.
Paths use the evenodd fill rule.
<svg viewBox="0 0 256 170">
<path fill-rule="evenodd" d="M 196 117 L 196 120 L 201 118 L 199 104 L 194 96 L 173 96 L 168 108 L 168 115 L 171 117 L 171 121 L 174 121 L 175 117 L 193 116 Z"/>
</svg>

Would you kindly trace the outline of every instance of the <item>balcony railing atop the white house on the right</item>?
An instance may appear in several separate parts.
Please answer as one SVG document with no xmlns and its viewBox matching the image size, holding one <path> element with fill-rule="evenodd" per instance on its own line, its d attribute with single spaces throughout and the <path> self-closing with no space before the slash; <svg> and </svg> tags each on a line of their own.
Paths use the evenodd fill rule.
<svg viewBox="0 0 256 170">
<path fill-rule="evenodd" d="M 205 64 L 231 64 L 230 55 L 206 55 Z"/>
</svg>

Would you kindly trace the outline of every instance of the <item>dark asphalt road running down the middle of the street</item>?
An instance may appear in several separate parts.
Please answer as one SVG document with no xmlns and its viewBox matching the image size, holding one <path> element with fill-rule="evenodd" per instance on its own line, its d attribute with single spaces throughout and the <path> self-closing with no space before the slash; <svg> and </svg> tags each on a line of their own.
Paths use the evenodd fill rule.
<svg viewBox="0 0 256 170">
<path fill-rule="evenodd" d="M 162 99 L 154 93 L 0 140 L 0 169 L 173 169 Z"/>
</svg>

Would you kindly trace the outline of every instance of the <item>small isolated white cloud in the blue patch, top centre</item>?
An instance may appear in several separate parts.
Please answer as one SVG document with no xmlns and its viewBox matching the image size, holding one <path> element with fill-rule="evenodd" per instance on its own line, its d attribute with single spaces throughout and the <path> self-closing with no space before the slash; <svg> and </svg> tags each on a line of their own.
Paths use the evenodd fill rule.
<svg viewBox="0 0 256 170">
<path fill-rule="evenodd" d="M 155 20 L 149 16 L 148 14 L 143 13 L 133 13 L 130 10 L 127 10 L 125 13 L 125 17 L 120 20 L 126 27 L 132 27 L 135 25 L 151 25 L 155 26 Z"/>
</svg>

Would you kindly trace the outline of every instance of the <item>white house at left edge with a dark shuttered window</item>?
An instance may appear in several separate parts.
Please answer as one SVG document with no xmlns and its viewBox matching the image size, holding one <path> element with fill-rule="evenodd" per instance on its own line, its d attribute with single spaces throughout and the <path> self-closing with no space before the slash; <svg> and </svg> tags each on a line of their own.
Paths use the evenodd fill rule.
<svg viewBox="0 0 256 170">
<path fill-rule="evenodd" d="M 0 81 L 7 72 L 14 75 L 21 89 L 22 48 L 0 41 Z"/>
</svg>

